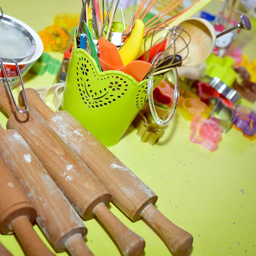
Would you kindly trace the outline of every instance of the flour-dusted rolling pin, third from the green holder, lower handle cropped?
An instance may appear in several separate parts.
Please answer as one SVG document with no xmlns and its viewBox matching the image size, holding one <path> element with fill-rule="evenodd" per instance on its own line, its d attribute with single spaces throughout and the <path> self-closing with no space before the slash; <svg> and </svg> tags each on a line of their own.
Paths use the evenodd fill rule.
<svg viewBox="0 0 256 256">
<path fill-rule="evenodd" d="M 57 253 L 93 255 L 84 242 L 87 229 L 29 145 L 15 130 L 0 125 L 0 155 L 34 205 L 36 222 Z"/>
</svg>

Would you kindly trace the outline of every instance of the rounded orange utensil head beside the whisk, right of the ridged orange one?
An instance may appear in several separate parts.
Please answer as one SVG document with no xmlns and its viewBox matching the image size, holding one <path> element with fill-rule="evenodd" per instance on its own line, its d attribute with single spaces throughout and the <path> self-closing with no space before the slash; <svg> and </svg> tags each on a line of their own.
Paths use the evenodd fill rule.
<svg viewBox="0 0 256 256">
<path fill-rule="evenodd" d="M 151 67 L 152 65 L 146 61 L 131 61 L 125 66 L 123 72 L 132 76 L 137 82 L 141 82 Z"/>
</svg>

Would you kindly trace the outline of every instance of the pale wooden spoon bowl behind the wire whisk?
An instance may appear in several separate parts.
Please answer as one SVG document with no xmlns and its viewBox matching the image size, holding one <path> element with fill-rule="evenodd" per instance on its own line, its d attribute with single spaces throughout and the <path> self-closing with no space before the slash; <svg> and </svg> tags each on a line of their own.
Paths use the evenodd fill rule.
<svg viewBox="0 0 256 256">
<path fill-rule="evenodd" d="M 216 34 L 212 24 L 201 18 L 191 18 L 177 26 L 181 26 L 187 33 L 177 29 L 180 36 L 175 37 L 173 45 L 171 45 L 172 35 L 167 39 L 166 49 L 169 54 L 182 56 L 181 67 L 192 67 L 206 60 L 215 46 Z"/>
</svg>

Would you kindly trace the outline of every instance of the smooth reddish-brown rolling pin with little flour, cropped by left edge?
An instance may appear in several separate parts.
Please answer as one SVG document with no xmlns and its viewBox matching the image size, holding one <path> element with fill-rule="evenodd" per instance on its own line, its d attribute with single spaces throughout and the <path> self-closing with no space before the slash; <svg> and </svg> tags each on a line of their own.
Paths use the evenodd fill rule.
<svg viewBox="0 0 256 256">
<path fill-rule="evenodd" d="M 33 229 L 36 210 L 0 156 L 0 231 L 15 233 L 27 256 L 53 256 Z"/>
</svg>

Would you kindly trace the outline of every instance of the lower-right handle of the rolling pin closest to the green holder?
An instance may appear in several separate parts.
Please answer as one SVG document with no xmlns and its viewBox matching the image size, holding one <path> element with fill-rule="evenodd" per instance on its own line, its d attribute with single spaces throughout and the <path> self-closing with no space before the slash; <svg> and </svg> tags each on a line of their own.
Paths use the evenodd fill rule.
<svg viewBox="0 0 256 256">
<path fill-rule="evenodd" d="M 191 248 L 191 234 L 169 221 L 153 204 L 145 207 L 141 215 L 163 237 L 172 253 L 183 254 Z"/>
</svg>

